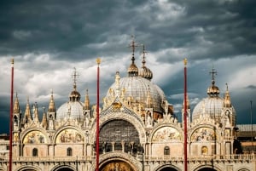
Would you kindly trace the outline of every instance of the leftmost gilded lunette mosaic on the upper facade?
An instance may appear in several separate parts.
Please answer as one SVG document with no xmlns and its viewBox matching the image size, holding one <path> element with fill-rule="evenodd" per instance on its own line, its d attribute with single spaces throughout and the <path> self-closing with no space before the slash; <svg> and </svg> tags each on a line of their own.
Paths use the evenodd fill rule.
<svg viewBox="0 0 256 171">
<path fill-rule="evenodd" d="M 31 131 L 26 134 L 23 144 L 44 144 L 46 143 L 46 138 L 40 131 Z"/>
</svg>

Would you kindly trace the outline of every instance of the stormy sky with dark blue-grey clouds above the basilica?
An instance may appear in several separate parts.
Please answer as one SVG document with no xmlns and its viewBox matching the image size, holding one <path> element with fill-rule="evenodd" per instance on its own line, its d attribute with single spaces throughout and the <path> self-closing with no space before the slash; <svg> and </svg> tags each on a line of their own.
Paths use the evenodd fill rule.
<svg viewBox="0 0 256 171">
<path fill-rule="evenodd" d="M 74 67 L 84 101 L 96 103 L 96 58 L 101 57 L 101 99 L 116 71 L 127 76 L 131 36 L 146 47 L 146 66 L 174 105 L 183 103 L 183 59 L 188 59 L 191 108 L 207 97 L 209 71 L 218 72 L 223 97 L 228 83 L 237 123 L 256 123 L 256 1 L 254 0 L 2 0 L 0 2 L 0 133 L 9 134 L 11 58 L 15 93 L 42 115 L 51 89 L 58 108 L 73 90 Z M 136 65 L 142 66 L 142 47 Z M 251 102 L 252 110 L 251 110 Z M 255 117 L 254 117 L 255 116 Z M 42 119 L 42 116 L 40 116 Z"/>
</svg>

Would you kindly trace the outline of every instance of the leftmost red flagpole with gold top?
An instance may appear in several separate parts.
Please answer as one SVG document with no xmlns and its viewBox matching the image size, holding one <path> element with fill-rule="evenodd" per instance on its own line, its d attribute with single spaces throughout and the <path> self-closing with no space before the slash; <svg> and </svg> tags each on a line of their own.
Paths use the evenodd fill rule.
<svg viewBox="0 0 256 171">
<path fill-rule="evenodd" d="M 15 60 L 11 60 L 12 64 L 12 76 L 11 76 L 11 97 L 10 97 L 10 114 L 9 114 L 9 171 L 12 171 L 13 164 L 13 112 L 14 112 L 14 64 Z"/>
</svg>

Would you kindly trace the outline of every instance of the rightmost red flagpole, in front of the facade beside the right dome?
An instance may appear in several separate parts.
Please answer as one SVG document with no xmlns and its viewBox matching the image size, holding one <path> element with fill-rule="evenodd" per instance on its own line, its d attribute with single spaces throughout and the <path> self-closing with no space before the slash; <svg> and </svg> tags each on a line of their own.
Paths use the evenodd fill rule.
<svg viewBox="0 0 256 171">
<path fill-rule="evenodd" d="M 188 171 L 188 146 L 187 146 L 187 59 L 184 59 L 184 171 Z"/>
</svg>

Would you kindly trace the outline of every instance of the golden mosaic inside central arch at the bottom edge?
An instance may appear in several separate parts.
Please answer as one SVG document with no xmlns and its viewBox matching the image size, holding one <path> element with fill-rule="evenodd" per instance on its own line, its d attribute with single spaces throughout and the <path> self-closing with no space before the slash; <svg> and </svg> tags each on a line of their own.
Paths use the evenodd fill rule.
<svg viewBox="0 0 256 171">
<path fill-rule="evenodd" d="M 133 171 L 127 162 L 110 162 L 101 169 L 102 171 Z"/>
</svg>

